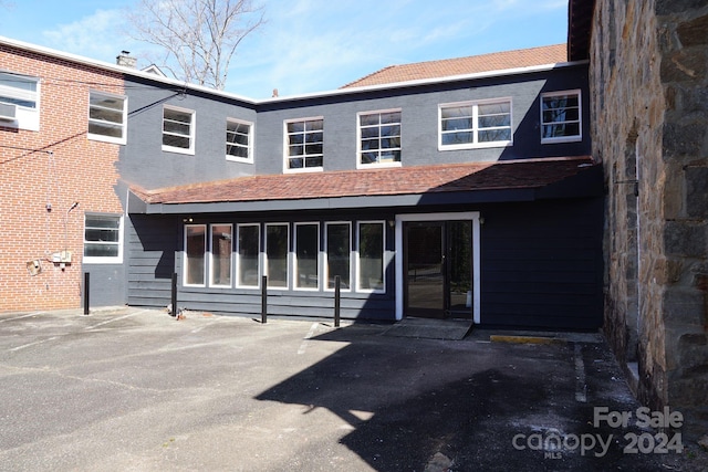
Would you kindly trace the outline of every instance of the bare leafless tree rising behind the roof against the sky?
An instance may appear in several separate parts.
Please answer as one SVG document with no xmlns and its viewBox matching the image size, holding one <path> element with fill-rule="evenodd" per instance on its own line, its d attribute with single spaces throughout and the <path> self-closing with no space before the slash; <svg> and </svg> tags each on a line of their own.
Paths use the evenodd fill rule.
<svg viewBox="0 0 708 472">
<path fill-rule="evenodd" d="M 223 90 L 236 49 L 266 22 L 263 10 L 252 0 L 139 0 L 131 35 L 162 49 L 158 65 L 177 78 Z"/>
</svg>

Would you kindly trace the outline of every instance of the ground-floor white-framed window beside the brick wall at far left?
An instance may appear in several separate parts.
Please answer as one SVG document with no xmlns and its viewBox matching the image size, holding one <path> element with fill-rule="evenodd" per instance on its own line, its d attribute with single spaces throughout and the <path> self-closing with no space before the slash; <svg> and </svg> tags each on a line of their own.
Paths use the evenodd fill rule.
<svg viewBox="0 0 708 472">
<path fill-rule="evenodd" d="M 84 258 L 86 264 L 123 263 L 123 216 L 84 214 Z"/>
</svg>

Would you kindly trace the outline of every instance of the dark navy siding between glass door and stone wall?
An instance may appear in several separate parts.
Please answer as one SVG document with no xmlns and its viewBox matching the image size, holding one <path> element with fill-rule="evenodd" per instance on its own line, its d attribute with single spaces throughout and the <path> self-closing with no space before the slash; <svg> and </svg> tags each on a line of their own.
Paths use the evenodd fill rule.
<svg viewBox="0 0 708 472">
<path fill-rule="evenodd" d="M 602 325 L 602 199 L 502 204 L 482 216 L 482 324 Z"/>
</svg>

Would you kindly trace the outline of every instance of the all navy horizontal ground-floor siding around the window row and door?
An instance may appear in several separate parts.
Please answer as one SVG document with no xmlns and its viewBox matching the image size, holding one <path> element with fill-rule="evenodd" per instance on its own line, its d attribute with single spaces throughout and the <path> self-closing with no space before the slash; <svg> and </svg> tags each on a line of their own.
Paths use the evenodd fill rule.
<svg viewBox="0 0 708 472">
<path fill-rule="evenodd" d="M 423 209 L 420 209 L 423 210 Z M 602 325 L 602 199 L 577 198 L 446 208 L 481 211 L 481 323 L 488 326 L 594 329 Z M 439 211 L 439 208 L 425 208 Z M 270 221 L 285 222 L 284 214 Z M 303 214 L 303 221 L 393 220 L 387 211 Z M 129 303 L 163 307 L 170 276 L 181 274 L 180 219 L 133 217 Z M 244 214 L 215 214 L 195 223 L 258 222 Z M 263 220 L 260 217 L 260 221 Z M 353 225 L 354 228 L 354 225 Z M 342 292 L 342 317 L 394 319 L 394 232 L 387 225 L 386 294 Z M 321 234 L 322 237 L 322 234 Z M 292 248 L 291 248 L 292 250 Z M 185 287 L 178 306 L 226 315 L 259 316 L 261 292 L 253 289 Z M 331 318 L 334 293 L 269 290 L 268 314 Z"/>
</svg>

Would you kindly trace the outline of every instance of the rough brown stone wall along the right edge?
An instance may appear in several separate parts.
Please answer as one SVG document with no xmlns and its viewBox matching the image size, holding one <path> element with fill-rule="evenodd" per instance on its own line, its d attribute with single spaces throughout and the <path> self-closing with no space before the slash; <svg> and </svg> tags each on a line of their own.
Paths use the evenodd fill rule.
<svg viewBox="0 0 708 472">
<path fill-rule="evenodd" d="M 597 0 L 591 39 L 605 332 L 638 399 L 684 412 L 689 434 L 708 424 L 706 31 L 705 0 Z"/>
</svg>

